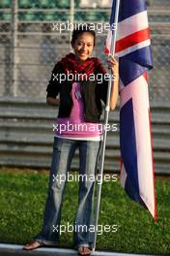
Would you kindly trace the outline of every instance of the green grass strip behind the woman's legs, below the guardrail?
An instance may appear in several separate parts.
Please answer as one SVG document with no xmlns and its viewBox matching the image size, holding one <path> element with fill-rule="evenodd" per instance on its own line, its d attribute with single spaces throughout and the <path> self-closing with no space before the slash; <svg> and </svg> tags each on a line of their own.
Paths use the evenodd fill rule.
<svg viewBox="0 0 170 256">
<path fill-rule="evenodd" d="M 116 233 L 98 236 L 98 249 L 131 253 L 170 252 L 170 186 L 168 177 L 156 177 L 158 219 L 128 199 L 120 182 L 102 186 L 99 224 L 118 225 Z M 48 183 L 47 172 L 0 169 L 0 241 L 24 244 L 41 231 Z M 77 182 L 67 185 L 62 224 L 73 222 Z M 62 234 L 61 247 L 72 246 L 72 234 Z"/>
</svg>

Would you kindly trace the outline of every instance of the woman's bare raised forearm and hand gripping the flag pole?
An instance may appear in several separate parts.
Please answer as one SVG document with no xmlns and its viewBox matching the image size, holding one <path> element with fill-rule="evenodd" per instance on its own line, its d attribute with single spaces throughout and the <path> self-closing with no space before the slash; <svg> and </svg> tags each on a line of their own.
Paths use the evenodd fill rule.
<svg viewBox="0 0 170 256">
<path fill-rule="evenodd" d="M 119 91 L 119 63 L 113 57 L 110 57 L 108 61 L 108 69 L 111 69 L 112 76 L 114 77 L 110 93 L 110 110 L 113 111 L 116 108 Z"/>
</svg>

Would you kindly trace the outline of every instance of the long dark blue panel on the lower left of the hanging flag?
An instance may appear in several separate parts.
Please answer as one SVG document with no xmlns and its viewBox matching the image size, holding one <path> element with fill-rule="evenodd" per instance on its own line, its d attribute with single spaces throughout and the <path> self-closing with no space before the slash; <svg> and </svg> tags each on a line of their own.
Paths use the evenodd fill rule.
<svg viewBox="0 0 170 256">
<path fill-rule="evenodd" d="M 140 201 L 132 99 L 124 105 L 120 112 L 120 145 L 128 175 L 125 189 L 130 198 Z"/>
</svg>

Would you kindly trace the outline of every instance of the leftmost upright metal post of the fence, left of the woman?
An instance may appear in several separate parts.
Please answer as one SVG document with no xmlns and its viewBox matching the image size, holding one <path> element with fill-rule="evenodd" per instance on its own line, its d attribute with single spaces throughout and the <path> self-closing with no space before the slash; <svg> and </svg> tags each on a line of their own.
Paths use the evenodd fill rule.
<svg viewBox="0 0 170 256">
<path fill-rule="evenodd" d="M 18 10 L 18 1 L 13 0 L 13 20 L 12 20 L 12 27 L 13 27 L 13 44 L 12 44 L 12 80 L 13 80 L 13 92 L 14 96 L 17 96 L 17 10 Z"/>
</svg>

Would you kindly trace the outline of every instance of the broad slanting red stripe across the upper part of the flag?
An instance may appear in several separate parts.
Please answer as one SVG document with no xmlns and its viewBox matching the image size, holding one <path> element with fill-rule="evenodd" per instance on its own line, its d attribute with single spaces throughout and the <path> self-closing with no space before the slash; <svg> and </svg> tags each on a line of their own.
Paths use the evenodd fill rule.
<svg viewBox="0 0 170 256">
<path fill-rule="evenodd" d="M 116 42 L 116 52 L 135 46 L 145 40 L 150 39 L 149 28 L 137 31 Z"/>
</svg>

